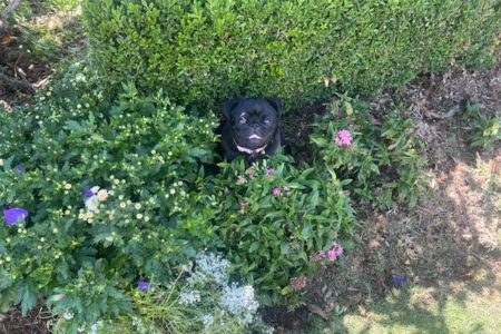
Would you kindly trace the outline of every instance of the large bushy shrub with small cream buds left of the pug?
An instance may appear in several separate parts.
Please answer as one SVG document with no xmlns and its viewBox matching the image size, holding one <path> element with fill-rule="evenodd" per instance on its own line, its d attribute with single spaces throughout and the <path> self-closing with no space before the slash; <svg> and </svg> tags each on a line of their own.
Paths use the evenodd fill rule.
<svg viewBox="0 0 501 334">
<path fill-rule="evenodd" d="M 76 63 L 36 107 L 0 112 L 0 310 L 47 298 L 95 322 L 130 310 L 138 279 L 218 246 L 204 188 L 214 117 L 134 85 L 107 98 Z M 75 330 L 75 328 L 73 328 Z"/>
</svg>

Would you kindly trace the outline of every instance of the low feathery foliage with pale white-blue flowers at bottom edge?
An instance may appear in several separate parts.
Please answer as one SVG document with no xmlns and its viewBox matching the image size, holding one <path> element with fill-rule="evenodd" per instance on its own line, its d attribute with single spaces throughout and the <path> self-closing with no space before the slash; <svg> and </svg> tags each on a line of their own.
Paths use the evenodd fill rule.
<svg viewBox="0 0 501 334">
<path fill-rule="evenodd" d="M 82 323 L 85 333 L 272 333 L 257 313 L 252 286 L 229 282 L 230 263 L 220 255 L 200 252 L 193 262 L 176 268 L 168 285 L 147 283 L 128 293 L 132 308 L 127 314 Z M 55 334 L 75 327 L 73 314 L 65 313 L 51 326 Z"/>
</svg>

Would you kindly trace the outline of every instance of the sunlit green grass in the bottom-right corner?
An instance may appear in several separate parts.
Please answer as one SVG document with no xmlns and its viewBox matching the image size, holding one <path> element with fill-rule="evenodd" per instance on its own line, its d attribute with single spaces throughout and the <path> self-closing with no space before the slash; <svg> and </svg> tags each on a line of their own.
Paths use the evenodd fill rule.
<svg viewBox="0 0 501 334">
<path fill-rule="evenodd" d="M 298 333 L 501 333 L 500 281 L 500 273 L 484 268 L 466 284 L 393 289 L 366 308 L 315 320 Z"/>
</svg>

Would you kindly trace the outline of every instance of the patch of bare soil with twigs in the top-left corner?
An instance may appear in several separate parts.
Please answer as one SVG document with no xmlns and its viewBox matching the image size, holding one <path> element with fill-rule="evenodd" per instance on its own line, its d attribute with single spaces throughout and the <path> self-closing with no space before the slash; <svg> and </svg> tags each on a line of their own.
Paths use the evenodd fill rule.
<svg viewBox="0 0 501 334">
<path fill-rule="evenodd" d="M 14 104 L 28 100 L 47 84 L 57 62 L 75 51 L 81 52 L 86 43 L 77 21 L 79 11 L 55 12 L 47 9 L 47 3 L 37 1 L 31 7 L 36 18 L 0 36 L 0 106 L 8 111 Z M 43 46 L 48 55 L 33 55 L 30 46 L 39 42 L 37 38 L 43 40 L 43 33 L 51 40 Z"/>
</svg>

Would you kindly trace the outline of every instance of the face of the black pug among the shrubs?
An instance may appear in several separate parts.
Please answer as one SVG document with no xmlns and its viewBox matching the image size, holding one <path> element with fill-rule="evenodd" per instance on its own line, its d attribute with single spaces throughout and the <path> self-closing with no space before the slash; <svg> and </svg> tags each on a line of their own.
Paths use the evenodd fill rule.
<svg viewBox="0 0 501 334">
<path fill-rule="evenodd" d="M 278 127 L 282 101 L 277 98 L 227 100 L 224 115 L 238 146 L 257 149 L 269 144 Z"/>
</svg>

